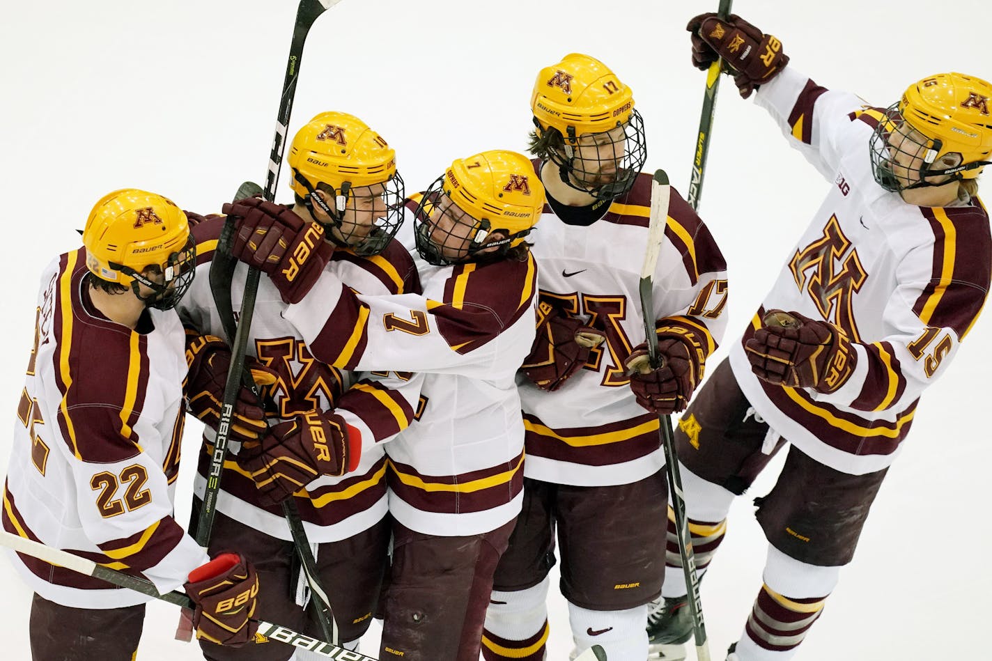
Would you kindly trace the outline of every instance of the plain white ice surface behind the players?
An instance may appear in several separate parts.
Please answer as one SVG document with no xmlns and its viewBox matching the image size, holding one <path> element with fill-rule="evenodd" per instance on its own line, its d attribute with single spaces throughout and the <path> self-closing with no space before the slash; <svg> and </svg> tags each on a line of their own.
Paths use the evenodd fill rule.
<svg viewBox="0 0 992 661">
<path fill-rule="evenodd" d="M 647 169 L 668 169 L 684 191 L 704 75 L 688 64 L 683 27 L 715 6 L 344 0 L 310 32 L 290 134 L 323 110 L 357 114 L 397 149 L 408 191 L 423 190 L 455 157 L 525 149 L 537 71 L 585 52 L 633 87 L 647 127 Z M 791 66 L 875 105 L 937 71 L 992 77 L 986 0 L 739 0 L 735 10 L 780 37 Z M 242 181 L 264 178 L 295 12 L 293 0 L 4 3 L 0 278 L 9 350 L 0 354 L 0 409 L 11 423 L 41 270 L 78 245 L 73 230 L 96 199 L 137 187 L 208 212 Z M 725 343 L 752 316 L 828 186 L 725 80 L 701 208 L 731 271 Z M 279 199 L 291 199 L 285 184 Z M 985 319 L 925 395 L 858 555 L 800 658 L 989 658 L 992 535 L 982 485 L 992 463 L 990 340 Z M 188 426 L 186 475 L 196 427 Z M 0 439 L 0 471 L 8 438 Z M 182 482 L 182 521 L 188 489 Z M 739 501 L 702 592 L 714 658 L 739 636 L 761 585 L 765 542 L 749 499 Z M 4 658 L 28 659 L 30 594 L 6 561 L 0 585 Z M 564 659 L 571 646 L 564 605 L 556 597 L 551 607 L 549 658 Z M 173 606 L 150 608 L 141 661 L 199 658 L 194 645 L 170 640 L 175 622 Z M 377 649 L 374 641 L 363 647 Z"/>
</svg>

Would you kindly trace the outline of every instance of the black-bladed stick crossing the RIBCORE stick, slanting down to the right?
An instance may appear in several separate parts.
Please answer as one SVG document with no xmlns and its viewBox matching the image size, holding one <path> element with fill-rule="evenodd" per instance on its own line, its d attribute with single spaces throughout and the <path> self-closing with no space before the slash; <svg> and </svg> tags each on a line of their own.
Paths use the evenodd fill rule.
<svg viewBox="0 0 992 661">
<path fill-rule="evenodd" d="M 244 182 L 238 188 L 234 200 L 251 198 L 261 193 L 262 187 L 258 184 Z M 217 316 L 220 317 L 220 325 L 223 327 L 228 341 L 231 341 L 231 338 L 237 334 L 237 322 L 234 319 L 234 308 L 231 304 L 231 280 L 234 276 L 234 268 L 237 266 L 237 260 L 230 256 L 230 240 L 233 233 L 234 222 L 228 220 L 224 223 L 220 239 L 217 241 L 217 248 L 210 260 L 210 292 L 213 294 L 214 307 L 217 310 Z M 249 370 L 241 370 L 241 382 L 254 393 L 259 401 L 259 406 L 264 410 L 265 404 L 261 393 Z M 290 534 L 293 537 L 293 545 L 300 557 L 300 571 L 304 573 L 304 578 L 310 588 L 310 600 L 315 610 L 317 622 L 320 624 L 320 630 L 328 640 L 337 643 L 337 620 L 330 607 L 330 598 L 317 575 L 316 560 L 310 551 L 310 540 L 307 538 L 307 531 L 304 529 L 303 520 L 300 518 L 300 512 L 292 496 L 283 501 L 283 516 L 286 517 Z"/>
</svg>

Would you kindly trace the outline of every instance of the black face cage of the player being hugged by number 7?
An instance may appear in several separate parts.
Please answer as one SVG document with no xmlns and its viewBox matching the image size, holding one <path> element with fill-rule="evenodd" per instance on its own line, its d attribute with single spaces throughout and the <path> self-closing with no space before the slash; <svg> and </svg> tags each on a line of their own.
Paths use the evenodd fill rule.
<svg viewBox="0 0 992 661">
<path fill-rule="evenodd" d="M 361 237 L 355 235 L 357 224 L 352 225 L 349 231 L 345 231 L 344 229 L 343 216 L 344 211 L 348 209 L 349 201 L 351 208 L 355 208 L 356 196 L 351 187 L 351 182 L 341 182 L 340 191 L 335 191 L 334 187 L 324 182 L 317 183 L 314 188 L 310 184 L 310 181 L 296 168 L 293 169 L 293 176 L 308 191 L 307 197 L 303 198 L 304 206 L 310 211 L 310 215 L 313 216 L 314 220 L 316 220 L 316 214 L 313 213 L 314 204 L 330 218 L 330 222 L 321 222 L 320 220 L 316 220 L 316 222 L 324 228 L 327 238 L 335 245 L 342 248 L 351 248 L 357 255 L 371 257 L 385 250 L 390 240 L 400 231 L 400 226 L 403 224 L 403 200 L 406 198 L 406 189 L 403 177 L 400 176 L 399 171 L 393 173 L 392 177 L 383 182 L 385 190 L 381 194 L 381 197 L 386 203 L 386 215 L 376 218 L 375 224 L 369 233 Z M 325 193 L 329 198 L 333 198 L 334 207 L 331 208 L 323 197 L 313 195 L 316 191 Z M 341 238 L 338 238 L 331 231 L 332 229 L 336 229 L 337 234 Z"/>
</svg>

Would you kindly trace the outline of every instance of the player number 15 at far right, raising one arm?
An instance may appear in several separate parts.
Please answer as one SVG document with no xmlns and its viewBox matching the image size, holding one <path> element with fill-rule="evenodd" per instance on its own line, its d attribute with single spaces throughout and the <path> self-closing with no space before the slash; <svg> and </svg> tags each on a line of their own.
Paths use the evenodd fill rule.
<svg viewBox="0 0 992 661">
<path fill-rule="evenodd" d="M 791 444 L 775 487 L 755 501 L 769 541 L 765 583 L 727 657 L 788 659 L 851 562 L 922 392 L 985 302 L 992 241 L 975 178 L 992 156 L 992 85 L 938 73 L 873 108 L 817 85 L 779 40 L 736 16 L 703 14 L 688 30 L 693 65 L 724 58 L 741 96 L 756 92 L 831 183 L 677 435 L 703 569 L 734 496 Z M 671 543 L 668 557 L 678 564 Z M 670 642 L 690 635 L 685 587 L 671 574 L 652 622 Z"/>
</svg>

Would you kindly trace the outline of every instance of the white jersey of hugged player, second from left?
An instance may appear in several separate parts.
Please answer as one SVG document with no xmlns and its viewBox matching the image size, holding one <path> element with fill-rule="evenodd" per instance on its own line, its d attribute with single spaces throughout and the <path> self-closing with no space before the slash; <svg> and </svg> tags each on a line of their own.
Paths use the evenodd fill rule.
<svg viewBox="0 0 992 661">
<path fill-rule="evenodd" d="M 196 278 L 180 304 L 187 326 L 197 331 L 224 336 L 220 317 L 210 291 L 209 270 L 222 216 L 210 216 L 193 225 L 196 240 Z M 419 291 L 413 260 L 393 241 L 383 254 L 358 257 L 350 250 L 337 249 L 326 272 L 341 278 L 357 291 L 397 294 Z M 248 268 L 238 263 L 231 280 L 231 304 L 235 315 L 241 309 Z M 310 295 L 322 314 L 330 309 Z M 247 353 L 259 358 L 280 375 L 279 383 L 266 390 L 270 425 L 280 418 L 333 409 L 362 435 L 362 456 L 358 467 L 341 476 L 321 475 L 297 493 L 296 503 L 311 542 L 346 539 L 377 523 L 386 514 L 386 456 L 383 442 L 393 438 L 414 419 L 423 377 L 401 373 L 375 375 L 351 373 L 314 359 L 303 336 L 283 319 L 287 306 L 272 281 L 263 275 L 257 298 Z M 214 431 L 204 428 L 204 447 L 194 482 L 202 497 L 213 452 Z M 236 454 L 240 445 L 228 446 Z M 263 506 L 258 489 L 247 471 L 234 457 L 224 463 L 217 494 L 217 510 L 257 530 L 290 540 L 289 525 L 280 506 Z"/>
</svg>

